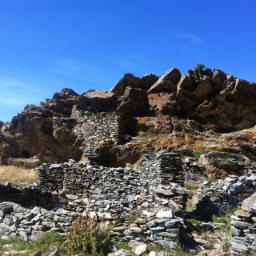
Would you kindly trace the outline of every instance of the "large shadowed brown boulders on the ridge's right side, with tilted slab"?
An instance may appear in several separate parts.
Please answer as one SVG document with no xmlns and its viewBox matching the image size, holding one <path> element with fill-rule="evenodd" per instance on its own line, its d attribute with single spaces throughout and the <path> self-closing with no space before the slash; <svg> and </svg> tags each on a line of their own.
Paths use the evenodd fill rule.
<svg viewBox="0 0 256 256">
<path fill-rule="evenodd" d="M 180 79 L 175 70 L 171 80 L 168 75 L 174 74 L 174 70 L 167 71 L 148 91 L 149 94 L 169 92 L 169 98 L 178 108 L 172 113 L 180 113 L 199 122 L 214 123 L 222 131 L 254 126 L 255 84 L 226 75 L 221 70 L 213 72 L 209 69 L 189 70 Z"/>
</svg>

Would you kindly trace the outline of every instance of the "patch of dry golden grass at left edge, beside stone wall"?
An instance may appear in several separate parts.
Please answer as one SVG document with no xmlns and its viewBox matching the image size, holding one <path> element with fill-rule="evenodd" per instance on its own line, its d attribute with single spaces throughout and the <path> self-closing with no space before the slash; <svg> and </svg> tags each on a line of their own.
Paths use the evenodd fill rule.
<svg viewBox="0 0 256 256">
<path fill-rule="evenodd" d="M 9 182 L 13 186 L 26 186 L 35 182 L 36 174 L 32 169 L 18 166 L 0 166 L 0 183 Z"/>
</svg>

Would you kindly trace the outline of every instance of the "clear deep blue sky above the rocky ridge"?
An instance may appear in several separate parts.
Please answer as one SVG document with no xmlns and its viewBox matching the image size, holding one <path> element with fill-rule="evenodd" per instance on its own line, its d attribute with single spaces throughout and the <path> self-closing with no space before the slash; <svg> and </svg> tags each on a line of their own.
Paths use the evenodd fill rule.
<svg viewBox="0 0 256 256">
<path fill-rule="evenodd" d="M 256 82 L 256 1 L 0 0 L 0 120 L 55 91 L 205 63 Z"/>
</svg>

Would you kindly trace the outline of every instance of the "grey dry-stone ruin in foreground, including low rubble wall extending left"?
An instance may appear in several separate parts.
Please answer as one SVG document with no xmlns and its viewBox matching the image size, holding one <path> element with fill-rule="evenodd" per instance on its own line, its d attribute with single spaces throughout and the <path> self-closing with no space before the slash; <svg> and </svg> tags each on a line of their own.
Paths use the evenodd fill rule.
<svg viewBox="0 0 256 256">
<path fill-rule="evenodd" d="M 29 241 L 46 231 L 64 232 L 82 215 L 109 221 L 114 241 L 179 242 L 186 191 L 182 162 L 176 153 L 145 154 L 141 170 L 99 166 L 94 162 L 42 164 L 37 190 L 51 194 L 45 205 L 0 203 L 2 235 Z M 32 192 L 31 192 L 32 193 Z M 6 201 L 6 200 L 5 200 Z"/>
</svg>

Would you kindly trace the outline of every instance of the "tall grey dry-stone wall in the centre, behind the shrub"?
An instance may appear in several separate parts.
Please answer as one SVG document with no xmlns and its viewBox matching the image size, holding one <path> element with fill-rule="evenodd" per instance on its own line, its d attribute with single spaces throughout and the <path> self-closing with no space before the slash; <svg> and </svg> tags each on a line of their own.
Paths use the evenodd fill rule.
<svg viewBox="0 0 256 256">
<path fill-rule="evenodd" d="M 94 162 L 38 167 L 38 187 L 56 191 L 58 203 L 78 214 L 97 214 L 114 226 L 116 241 L 151 241 L 175 246 L 186 191 L 178 154 L 146 154 L 142 169 L 109 168 Z"/>
</svg>

